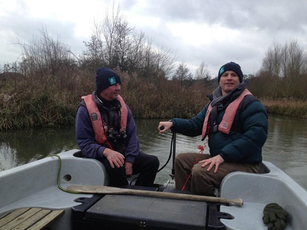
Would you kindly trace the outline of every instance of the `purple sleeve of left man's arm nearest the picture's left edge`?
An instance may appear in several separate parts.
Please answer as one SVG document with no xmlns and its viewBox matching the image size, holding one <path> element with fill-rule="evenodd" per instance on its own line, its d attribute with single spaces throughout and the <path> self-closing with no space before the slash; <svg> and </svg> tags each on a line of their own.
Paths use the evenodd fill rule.
<svg viewBox="0 0 307 230">
<path fill-rule="evenodd" d="M 95 142 L 93 125 L 87 109 L 83 106 L 77 111 L 75 128 L 76 141 L 82 153 L 90 158 L 104 157 L 102 153 L 105 148 Z"/>
</svg>

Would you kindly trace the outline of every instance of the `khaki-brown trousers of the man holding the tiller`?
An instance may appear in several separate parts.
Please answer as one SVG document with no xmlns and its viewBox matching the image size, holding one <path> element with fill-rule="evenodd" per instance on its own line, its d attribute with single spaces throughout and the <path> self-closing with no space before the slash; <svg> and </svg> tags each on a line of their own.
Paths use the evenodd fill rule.
<svg viewBox="0 0 307 230">
<path fill-rule="evenodd" d="M 200 157 L 201 155 L 201 157 Z M 224 162 L 218 166 L 218 170 L 214 173 L 215 166 L 208 172 L 209 165 L 202 168 L 203 164 L 195 164 L 196 159 L 198 162 L 204 159 L 209 159 L 209 154 L 198 154 L 198 153 L 181 153 L 176 157 L 175 161 L 175 179 L 176 189 L 182 190 L 189 175 L 190 176 L 185 191 L 200 192 L 207 194 L 214 194 L 214 188 L 220 188 L 223 178 L 231 172 L 250 172 L 259 173 L 258 164 L 247 164 L 247 163 L 235 163 L 235 162 Z"/>
</svg>

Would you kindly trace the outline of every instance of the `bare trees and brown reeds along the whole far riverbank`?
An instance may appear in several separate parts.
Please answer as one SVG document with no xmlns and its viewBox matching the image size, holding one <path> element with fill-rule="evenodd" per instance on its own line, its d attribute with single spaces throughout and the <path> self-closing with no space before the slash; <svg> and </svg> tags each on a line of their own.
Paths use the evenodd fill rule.
<svg viewBox="0 0 307 230">
<path fill-rule="evenodd" d="M 218 85 L 205 62 L 193 76 L 171 50 L 130 28 L 119 8 L 95 22 L 79 56 L 46 28 L 19 45 L 21 61 L 0 66 L 0 130 L 74 124 L 81 96 L 95 90 L 101 66 L 120 74 L 121 95 L 135 118 L 191 118 Z M 261 69 L 244 80 L 268 112 L 307 118 L 307 59 L 296 40 L 273 43 Z"/>
</svg>

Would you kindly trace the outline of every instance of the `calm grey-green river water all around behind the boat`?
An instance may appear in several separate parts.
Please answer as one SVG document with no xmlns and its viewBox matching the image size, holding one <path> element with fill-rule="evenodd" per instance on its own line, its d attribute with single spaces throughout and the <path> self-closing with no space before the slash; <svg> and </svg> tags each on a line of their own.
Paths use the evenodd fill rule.
<svg viewBox="0 0 307 230">
<path fill-rule="evenodd" d="M 136 120 L 141 150 L 167 161 L 171 132 L 159 134 L 160 120 Z M 269 116 L 269 135 L 263 159 L 272 162 L 307 190 L 307 119 Z M 201 137 L 177 135 L 176 153 L 198 152 Z M 33 162 L 52 153 L 77 148 L 74 127 L 0 132 L 0 171 Z M 208 147 L 204 153 L 208 153 Z M 65 167 L 64 165 L 62 167 Z M 156 182 L 169 178 L 172 162 L 158 173 Z"/>
</svg>

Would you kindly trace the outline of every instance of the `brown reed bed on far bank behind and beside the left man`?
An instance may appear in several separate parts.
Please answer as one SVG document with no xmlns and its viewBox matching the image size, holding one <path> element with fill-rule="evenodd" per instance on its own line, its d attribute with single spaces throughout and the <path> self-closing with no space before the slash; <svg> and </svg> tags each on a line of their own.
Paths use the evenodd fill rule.
<svg viewBox="0 0 307 230">
<path fill-rule="evenodd" d="M 210 89 L 202 84 L 181 86 L 179 82 L 150 80 L 121 75 L 126 104 L 136 119 L 191 118 L 206 105 Z M 75 73 L 56 78 L 19 79 L 2 85 L 0 130 L 73 125 L 81 96 L 95 90 L 95 74 Z"/>
</svg>

